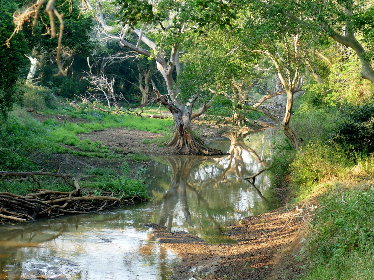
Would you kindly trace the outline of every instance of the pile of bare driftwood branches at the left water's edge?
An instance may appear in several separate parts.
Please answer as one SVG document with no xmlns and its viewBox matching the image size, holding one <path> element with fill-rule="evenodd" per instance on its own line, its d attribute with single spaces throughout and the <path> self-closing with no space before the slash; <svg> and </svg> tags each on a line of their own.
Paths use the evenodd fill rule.
<svg viewBox="0 0 374 280">
<path fill-rule="evenodd" d="M 52 176 L 71 187 L 70 192 L 58 192 L 41 188 L 39 176 Z M 43 171 L 8 172 L 0 171 L 5 181 L 33 180 L 39 189 L 29 190 L 27 195 L 0 192 L 0 223 L 6 221 L 27 221 L 43 217 L 57 217 L 64 214 L 84 214 L 114 208 L 121 204 L 130 204 L 139 197 L 125 194 L 101 192 L 93 194 L 91 189 L 82 189 L 71 174 L 58 174 Z M 120 197 L 119 197 L 120 196 Z M 124 198 L 125 197 L 125 198 Z"/>
</svg>

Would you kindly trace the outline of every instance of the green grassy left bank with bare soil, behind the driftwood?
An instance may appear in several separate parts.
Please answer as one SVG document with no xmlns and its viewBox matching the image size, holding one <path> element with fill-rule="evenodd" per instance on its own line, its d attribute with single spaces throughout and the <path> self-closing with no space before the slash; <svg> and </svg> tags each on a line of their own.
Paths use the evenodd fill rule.
<svg viewBox="0 0 374 280">
<path fill-rule="evenodd" d="M 146 200 L 148 198 L 145 184 L 145 162 L 149 156 L 132 153 L 120 147 L 108 147 L 101 141 L 91 141 L 82 137 L 92 131 L 107 128 L 125 130 L 142 130 L 153 133 L 170 133 L 171 119 L 137 118 L 128 115 L 74 109 L 71 106 L 60 106 L 55 109 L 40 108 L 38 121 L 25 111 L 16 107 L 7 119 L 0 124 L 0 170 L 1 171 L 37 171 L 46 168 L 50 172 L 59 172 L 60 161 L 69 155 L 70 161 L 87 162 L 84 167 L 72 165 L 68 172 L 72 176 L 79 173 L 80 196 L 113 196 Z M 57 165 L 49 165 L 50 159 Z M 75 168 L 75 169 L 74 169 Z M 81 170 L 78 170 L 81 169 Z M 83 169 L 83 170 L 82 170 Z M 67 172 L 67 171 L 64 171 Z M 47 189 L 56 192 L 71 192 L 72 185 L 54 177 L 37 175 L 18 180 L 14 177 L 2 177 L 0 192 L 26 196 L 36 189 Z M 36 179 L 36 180 L 34 180 Z M 129 200 L 130 201 L 130 200 Z M 131 200 L 130 202 L 132 202 Z M 6 202 L 0 202 L 6 203 Z M 94 205 L 98 205 L 95 200 Z M 95 204 L 96 203 L 96 204 Z M 3 204 L 8 209 L 12 205 Z M 1 207 L 0 207 L 1 208 Z M 14 208 L 17 208 L 14 205 Z M 95 208 L 96 209 L 96 208 Z M 32 213 L 30 213 L 31 215 Z"/>
</svg>

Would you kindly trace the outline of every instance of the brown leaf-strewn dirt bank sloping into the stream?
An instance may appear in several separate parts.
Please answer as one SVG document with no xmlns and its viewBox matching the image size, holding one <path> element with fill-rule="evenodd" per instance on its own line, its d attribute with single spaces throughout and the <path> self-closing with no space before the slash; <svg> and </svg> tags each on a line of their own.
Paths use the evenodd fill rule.
<svg viewBox="0 0 374 280">
<path fill-rule="evenodd" d="M 281 207 L 246 217 L 227 230 L 237 245 L 209 245 L 186 232 L 169 232 L 157 224 L 149 226 L 162 246 L 181 258 L 173 270 L 174 279 L 292 279 L 286 267 L 295 262 L 303 224 L 297 208 L 288 211 Z M 285 251 L 288 253 L 283 254 Z"/>
</svg>

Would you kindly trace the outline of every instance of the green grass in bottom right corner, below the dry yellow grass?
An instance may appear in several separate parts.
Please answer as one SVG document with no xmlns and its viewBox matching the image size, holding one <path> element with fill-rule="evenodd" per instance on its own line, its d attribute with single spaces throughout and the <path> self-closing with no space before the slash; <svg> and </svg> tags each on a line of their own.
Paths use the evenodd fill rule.
<svg viewBox="0 0 374 280">
<path fill-rule="evenodd" d="M 322 199 L 311 223 L 310 272 L 304 279 L 371 279 L 374 190 L 341 190 Z"/>
</svg>

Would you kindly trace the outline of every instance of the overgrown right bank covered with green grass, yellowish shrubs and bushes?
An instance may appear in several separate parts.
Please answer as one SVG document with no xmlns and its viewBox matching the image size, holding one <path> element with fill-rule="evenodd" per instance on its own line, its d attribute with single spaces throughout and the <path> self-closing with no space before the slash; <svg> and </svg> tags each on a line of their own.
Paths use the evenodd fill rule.
<svg viewBox="0 0 374 280">
<path fill-rule="evenodd" d="M 296 153 L 279 132 L 272 178 L 288 207 L 313 200 L 309 234 L 295 261 L 301 279 L 372 279 L 374 271 L 373 103 L 295 111 Z"/>
</svg>

